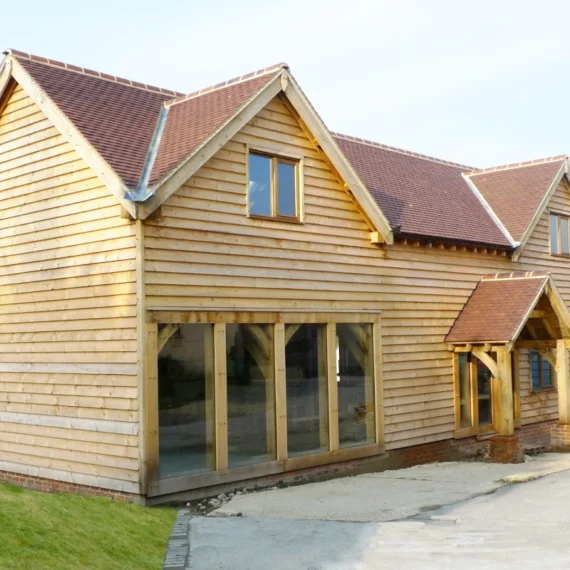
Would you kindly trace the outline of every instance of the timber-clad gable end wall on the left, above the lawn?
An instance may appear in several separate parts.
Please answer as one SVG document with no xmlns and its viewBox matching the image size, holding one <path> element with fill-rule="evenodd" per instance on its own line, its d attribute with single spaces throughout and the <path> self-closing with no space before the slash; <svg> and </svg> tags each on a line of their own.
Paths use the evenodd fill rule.
<svg viewBox="0 0 570 570">
<path fill-rule="evenodd" d="M 135 228 L 19 86 L 0 216 L 0 470 L 137 493 Z"/>
</svg>

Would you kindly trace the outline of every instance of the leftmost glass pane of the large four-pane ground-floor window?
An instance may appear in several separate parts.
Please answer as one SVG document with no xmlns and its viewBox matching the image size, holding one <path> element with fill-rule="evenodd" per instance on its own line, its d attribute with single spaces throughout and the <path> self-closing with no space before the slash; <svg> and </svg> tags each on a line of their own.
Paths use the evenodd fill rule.
<svg viewBox="0 0 570 570">
<path fill-rule="evenodd" d="M 158 355 L 162 479 L 215 469 L 213 362 L 211 325 L 180 325 Z"/>
</svg>

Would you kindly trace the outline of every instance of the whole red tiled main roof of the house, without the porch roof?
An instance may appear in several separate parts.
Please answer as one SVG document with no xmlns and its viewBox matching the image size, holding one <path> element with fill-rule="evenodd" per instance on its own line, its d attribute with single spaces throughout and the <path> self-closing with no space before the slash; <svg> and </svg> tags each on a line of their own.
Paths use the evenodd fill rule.
<svg viewBox="0 0 570 570">
<path fill-rule="evenodd" d="M 151 184 L 176 168 L 286 68 L 279 64 L 182 96 L 14 50 L 9 53 L 130 188 L 138 186 L 145 165 L 149 166 L 151 143 L 164 109 Z M 397 234 L 501 248 L 510 248 L 509 240 L 463 174 L 469 173 L 517 239 L 562 160 L 473 171 L 362 139 L 335 138 Z M 513 195 L 517 208 L 512 208 Z"/>
</svg>

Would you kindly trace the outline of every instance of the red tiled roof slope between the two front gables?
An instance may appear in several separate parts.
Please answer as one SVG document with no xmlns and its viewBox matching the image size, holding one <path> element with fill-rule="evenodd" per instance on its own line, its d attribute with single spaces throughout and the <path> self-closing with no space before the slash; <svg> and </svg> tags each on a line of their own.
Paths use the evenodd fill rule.
<svg viewBox="0 0 570 570">
<path fill-rule="evenodd" d="M 511 248 L 463 178 L 472 167 L 334 136 L 396 234 Z"/>
</svg>

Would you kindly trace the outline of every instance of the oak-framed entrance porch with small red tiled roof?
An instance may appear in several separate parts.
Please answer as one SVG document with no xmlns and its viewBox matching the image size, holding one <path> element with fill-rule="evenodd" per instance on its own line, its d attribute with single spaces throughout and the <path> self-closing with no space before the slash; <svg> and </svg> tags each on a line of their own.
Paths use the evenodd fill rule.
<svg viewBox="0 0 570 570">
<path fill-rule="evenodd" d="M 522 460 L 515 432 L 521 358 L 529 359 L 532 391 L 558 387 L 563 417 L 568 339 L 570 313 L 549 274 L 484 276 L 446 336 L 454 353 L 455 437 L 496 433 L 491 456 L 495 449 L 500 461 Z"/>
</svg>

